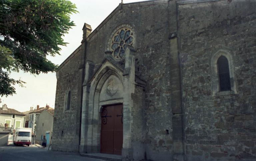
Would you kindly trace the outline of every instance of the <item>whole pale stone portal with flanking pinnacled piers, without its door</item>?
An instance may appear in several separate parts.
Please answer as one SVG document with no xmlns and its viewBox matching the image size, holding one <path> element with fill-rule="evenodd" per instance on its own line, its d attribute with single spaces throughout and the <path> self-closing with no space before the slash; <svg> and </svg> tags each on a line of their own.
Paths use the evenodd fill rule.
<svg viewBox="0 0 256 161">
<path fill-rule="evenodd" d="M 122 115 L 123 117 L 123 144 L 122 151 L 119 151 L 119 154 L 122 153 L 122 158 L 133 157 L 132 138 L 134 134 L 132 134 L 132 123 L 134 123 L 134 120 L 132 109 L 134 104 L 132 94 L 135 92 L 135 86 L 140 86 L 138 88 L 141 90 L 144 82 L 135 77 L 135 64 L 132 52 L 134 51 L 130 48 L 127 48 L 125 51 L 124 67 L 115 63 L 108 56 L 106 56 L 102 65 L 95 73 L 93 72 L 93 63 L 89 61 L 86 63 L 86 74 L 83 84 L 80 153 L 101 152 L 101 125 L 102 116 L 105 116 L 101 113 L 103 112 L 102 108 L 121 104 L 123 106 L 123 113 L 114 113 L 114 115 Z M 94 74 L 92 75 L 92 73 Z M 140 94 L 140 96 L 140 102 L 143 102 L 143 94 Z M 135 113 L 135 115 L 137 114 Z M 140 118 L 143 118 L 143 113 L 140 112 L 140 115 Z M 143 127 L 142 123 L 137 123 L 136 125 Z M 140 135 L 143 134 L 140 133 Z M 144 155 L 144 150 L 140 151 L 142 151 L 141 155 Z"/>
</svg>

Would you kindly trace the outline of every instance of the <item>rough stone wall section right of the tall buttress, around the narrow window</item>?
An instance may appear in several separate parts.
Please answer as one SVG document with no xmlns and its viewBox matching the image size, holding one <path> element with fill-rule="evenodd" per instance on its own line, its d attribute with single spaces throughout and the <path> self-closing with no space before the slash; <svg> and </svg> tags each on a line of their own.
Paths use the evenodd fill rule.
<svg viewBox="0 0 256 161">
<path fill-rule="evenodd" d="M 255 7 L 254 0 L 178 6 L 187 160 L 256 159 Z M 233 59 L 237 94 L 213 96 L 219 50 Z"/>
</svg>

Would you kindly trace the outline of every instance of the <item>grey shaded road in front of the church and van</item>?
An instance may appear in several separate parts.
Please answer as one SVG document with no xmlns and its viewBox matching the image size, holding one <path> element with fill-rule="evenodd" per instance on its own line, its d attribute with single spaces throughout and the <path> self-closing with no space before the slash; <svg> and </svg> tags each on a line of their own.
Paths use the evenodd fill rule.
<svg viewBox="0 0 256 161">
<path fill-rule="evenodd" d="M 0 161 L 103 161 L 100 159 L 82 157 L 77 153 L 51 151 L 35 145 L 0 146 Z"/>
</svg>

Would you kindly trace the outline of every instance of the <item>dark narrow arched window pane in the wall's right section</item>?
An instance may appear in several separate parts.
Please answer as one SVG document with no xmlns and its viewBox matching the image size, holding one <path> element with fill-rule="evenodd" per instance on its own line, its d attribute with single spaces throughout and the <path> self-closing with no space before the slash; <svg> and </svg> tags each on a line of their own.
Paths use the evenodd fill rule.
<svg viewBox="0 0 256 161">
<path fill-rule="evenodd" d="M 217 65 L 218 65 L 219 85 L 220 85 L 219 90 L 220 91 L 231 90 L 228 59 L 224 56 L 220 56 L 217 61 Z"/>
</svg>

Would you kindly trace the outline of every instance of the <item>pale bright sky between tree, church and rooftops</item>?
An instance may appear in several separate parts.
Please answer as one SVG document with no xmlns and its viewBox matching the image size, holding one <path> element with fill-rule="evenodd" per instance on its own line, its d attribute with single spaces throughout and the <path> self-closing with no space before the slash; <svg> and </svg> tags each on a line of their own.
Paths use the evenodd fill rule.
<svg viewBox="0 0 256 161">
<path fill-rule="evenodd" d="M 87 23 L 94 30 L 118 5 L 121 0 L 70 0 L 76 4 L 79 13 L 70 16 L 75 25 L 63 39 L 67 46 L 61 47 L 61 55 L 47 57 L 54 64 L 60 65 L 80 44 L 83 35 L 83 25 Z M 139 2 L 142 0 L 123 0 L 123 3 Z M 31 75 L 30 73 L 11 73 L 11 78 L 25 81 L 26 87 L 15 85 L 16 94 L 1 97 L 0 106 L 6 104 L 8 108 L 20 112 L 28 111 L 37 105 L 45 107 L 46 104 L 54 108 L 56 92 L 55 73 Z"/>
</svg>

